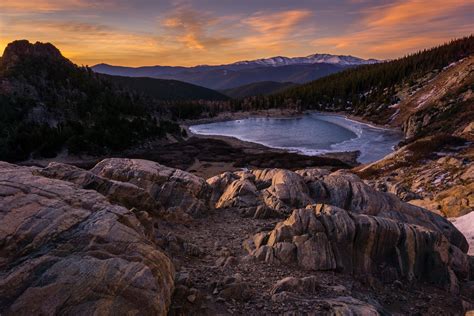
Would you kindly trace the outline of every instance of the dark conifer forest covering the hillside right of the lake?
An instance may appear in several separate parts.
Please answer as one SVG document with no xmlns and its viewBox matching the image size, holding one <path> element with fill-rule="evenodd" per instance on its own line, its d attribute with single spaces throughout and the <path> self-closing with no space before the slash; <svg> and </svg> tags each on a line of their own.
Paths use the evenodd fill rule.
<svg viewBox="0 0 474 316">
<path fill-rule="evenodd" d="M 397 60 L 365 65 L 286 90 L 264 106 L 292 104 L 305 109 L 348 111 L 380 123 L 396 111 L 403 88 L 415 91 L 443 68 L 474 53 L 474 36 L 420 51 Z M 261 106 L 262 101 L 256 102 Z"/>
</svg>

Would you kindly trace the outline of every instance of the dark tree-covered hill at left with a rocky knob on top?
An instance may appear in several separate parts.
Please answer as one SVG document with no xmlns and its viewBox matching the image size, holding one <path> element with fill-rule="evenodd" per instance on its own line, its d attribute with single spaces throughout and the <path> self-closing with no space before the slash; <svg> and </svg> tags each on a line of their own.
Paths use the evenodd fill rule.
<svg viewBox="0 0 474 316">
<path fill-rule="evenodd" d="M 51 44 L 10 43 L 0 62 L 0 160 L 101 154 L 179 132 L 148 100 L 64 58 Z"/>
</svg>

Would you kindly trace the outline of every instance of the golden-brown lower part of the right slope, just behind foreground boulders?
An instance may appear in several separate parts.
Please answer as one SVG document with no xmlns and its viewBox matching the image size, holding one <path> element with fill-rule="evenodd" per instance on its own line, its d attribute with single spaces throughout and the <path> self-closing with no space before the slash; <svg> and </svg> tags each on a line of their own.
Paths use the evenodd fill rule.
<svg viewBox="0 0 474 316">
<path fill-rule="evenodd" d="M 418 140 L 354 171 L 379 191 L 444 217 L 462 216 L 474 210 L 474 147 L 454 143 L 433 148 L 442 140 Z"/>
</svg>

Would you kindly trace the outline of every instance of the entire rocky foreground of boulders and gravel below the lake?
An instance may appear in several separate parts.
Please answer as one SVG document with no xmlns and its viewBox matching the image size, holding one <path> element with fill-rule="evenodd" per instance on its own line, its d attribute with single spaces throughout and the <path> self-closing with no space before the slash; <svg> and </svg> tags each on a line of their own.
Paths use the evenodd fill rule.
<svg viewBox="0 0 474 316">
<path fill-rule="evenodd" d="M 463 234 L 345 171 L 0 163 L 0 222 L 2 315 L 474 307 Z"/>
</svg>

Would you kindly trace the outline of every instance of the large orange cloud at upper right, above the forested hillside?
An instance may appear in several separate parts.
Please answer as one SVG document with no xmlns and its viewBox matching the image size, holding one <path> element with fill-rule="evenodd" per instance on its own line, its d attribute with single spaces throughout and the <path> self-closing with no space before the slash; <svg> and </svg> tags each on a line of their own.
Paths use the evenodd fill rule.
<svg viewBox="0 0 474 316">
<path fill-rule="evenodd" d="M 463 24 L 458 20 L 464 10 L 474 10 L 474 2 L 399 0 L 364 10 L 353 31 L 319 38 L 312 44 L 329 52 L 395 58 L 472 33 L 474 21 Z"/>
</svg>

